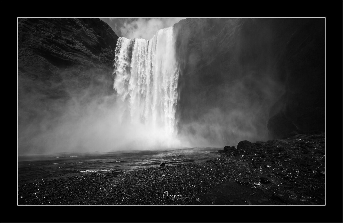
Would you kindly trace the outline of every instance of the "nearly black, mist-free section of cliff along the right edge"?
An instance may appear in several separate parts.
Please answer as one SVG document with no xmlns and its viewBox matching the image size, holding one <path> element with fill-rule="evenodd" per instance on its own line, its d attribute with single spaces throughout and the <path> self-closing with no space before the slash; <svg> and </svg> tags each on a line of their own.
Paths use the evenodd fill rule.
<svg viewBox="0 0 343 223">
<path fill-rule="evenodd" d="M 325 129 L 325 20 L 308 18 L 292 25 L 279 62 L 286 72 L 285 94 L 268 121 L 272 138 Z"/>
</svg>

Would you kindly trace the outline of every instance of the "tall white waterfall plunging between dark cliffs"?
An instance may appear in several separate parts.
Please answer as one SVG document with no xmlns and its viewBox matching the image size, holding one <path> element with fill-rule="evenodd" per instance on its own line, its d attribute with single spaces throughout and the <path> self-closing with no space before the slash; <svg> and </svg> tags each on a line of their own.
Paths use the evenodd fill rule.
<svg viewBox="0 0 343 223">
<path fill-rule="evenodd" d="M 139 126 L 155 141 L 175 145 L 179 66 L 173 27 L 149 40 L 120 37 L 115 56 L 114 89 L 122 102 L 122 121 Z"/>
</svg>

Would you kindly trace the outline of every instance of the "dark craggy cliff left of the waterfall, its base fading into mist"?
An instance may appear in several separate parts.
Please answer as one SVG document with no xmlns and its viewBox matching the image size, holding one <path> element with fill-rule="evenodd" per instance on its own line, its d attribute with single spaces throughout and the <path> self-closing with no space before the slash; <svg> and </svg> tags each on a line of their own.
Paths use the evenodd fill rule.
<svg viewBox="0 0 343 223">
<path fill-rule="evenodd" d="M 99 18 L 18 19 L 19 147 L 29 150 L 71 104 L 113 93 L 117 39 Z"/>
</svg>

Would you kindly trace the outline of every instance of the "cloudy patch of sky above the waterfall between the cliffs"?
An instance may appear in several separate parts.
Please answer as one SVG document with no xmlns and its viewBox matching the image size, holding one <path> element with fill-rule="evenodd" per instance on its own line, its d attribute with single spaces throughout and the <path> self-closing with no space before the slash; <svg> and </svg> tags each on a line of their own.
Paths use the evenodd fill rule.
<svg viewBox="0 0 343 223">
<path fill-rule="evenodd" d="M 159 29 L 173 26 L 185 18 L 100 18 L 119 37 L 151 39 Z"/>
</svg>

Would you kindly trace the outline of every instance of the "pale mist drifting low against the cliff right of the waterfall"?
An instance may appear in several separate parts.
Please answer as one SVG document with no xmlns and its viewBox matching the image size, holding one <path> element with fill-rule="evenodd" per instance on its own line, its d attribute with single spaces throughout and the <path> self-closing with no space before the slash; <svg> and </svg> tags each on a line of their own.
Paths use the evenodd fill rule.
<svg viewBox="0 0 343 223">
<path fill-rule="evenodd" d="M 237 146 L 242 140 L 268 140 L 269 109 L 284 91 L 278 89 L 278 83 L 265 81 L 271 82 L 269 88 L 264 87 L 264 80 L 250 76 L 249 79 L 223 84 L 199 95 L 211 97 L 216 104 L 212 108 L 207 104 L 198 104 L 199 113 L 195 120 L 178 122 L 181 141 L 187 142 L 188 147 L 224 147 Z M 253 83 L 255 89 L 247 82 Z"/>
</svg>

